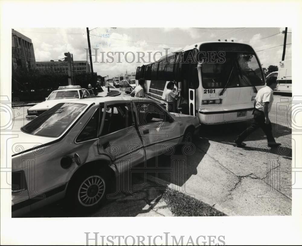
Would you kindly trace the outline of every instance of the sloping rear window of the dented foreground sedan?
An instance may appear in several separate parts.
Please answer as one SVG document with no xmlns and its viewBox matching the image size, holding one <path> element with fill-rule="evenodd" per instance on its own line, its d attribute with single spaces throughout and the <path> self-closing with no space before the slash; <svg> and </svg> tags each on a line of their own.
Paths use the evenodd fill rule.
<svg viewBox="0 0 302 246">
<path fill-rule="evenodd" d="M 59 103 L 21 130 L 42 137 L 59 137 L 86 106 L 82 103 Z"/>
</svg>

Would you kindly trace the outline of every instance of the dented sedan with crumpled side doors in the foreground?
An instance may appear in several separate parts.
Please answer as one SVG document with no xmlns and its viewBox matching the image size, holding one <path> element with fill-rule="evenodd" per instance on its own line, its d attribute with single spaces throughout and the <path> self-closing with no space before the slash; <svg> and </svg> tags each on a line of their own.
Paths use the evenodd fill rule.
<svg viewBox="0 0 302 246">
<path fill-rule="evenodd" d="M 60 102 L 12 138 L 12 215 L 63 197 L 70 209 L 98 207 L 120 174 L 183 142 L 187 149 L 198 126 L 151 99 Z"/>
</svg>

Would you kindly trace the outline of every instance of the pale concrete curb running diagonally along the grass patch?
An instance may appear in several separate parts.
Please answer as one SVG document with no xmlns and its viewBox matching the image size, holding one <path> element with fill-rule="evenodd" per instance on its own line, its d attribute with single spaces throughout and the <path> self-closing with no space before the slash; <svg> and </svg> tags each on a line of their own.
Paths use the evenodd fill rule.
<svg viewBox="0 0 302 246">
<path fill-rule="evenodd" d="M 180 187 L 180 186 L 178 186 L 178 185 L 176 185 L 176 184 L 172 184 L 172 183 L 170 183 L 170 182 L 168 182 L 168 181 L 165 181 L 165 180 L 163 180 L 163 179 L 161 179 L 161 178 L 156 178 L 156 177 L 154 177 L 154 176 L 152 176 L 152 175 L 144 175 L 144 174 L 141 175 L 141 176 L 142 176 L 142 178 L 145 178 L 145 177 L 146 177 L 149 181 L 151 181 L 151 182 L 153 182 L 153 183 L 155 183 L 155 184 L 165 185 L 165 186 L 169 187 L 170 189 L 172 189 L 172 190 L 174 190 L 174 191 L 181 192 L 181 193 L 183 193 L 183 194 L 185 194 L 185 195 L 188 195 L 188 196 L 193 197 L 193 198 L 195 198 L 195 199 L 197 199 L 197 200 L 200 200 L 200 201 L 202 201 L 203 203 L 206 203 L 206 204 L 208 204 L 209 206 L 214 207 L 214 208 L 217 209 L 218 211 L 220 211 L 220 212 L 222 212 L 222 213 L 225 213 L 227 216 L 239 216 L 239 215 L 236 214 L 235 212 L 233 212 L 233 211 L 231 211 L 231 210 L 229 210 L 229 209 L 227 209 L 227 208 L 224 208 L 224 207 L 220 206 L 218 203 L 214 202 L 213 200 L 211 200 L 211 199 L 209 199 L 209 198 L 207 198 L 207 197 L 204 197 L 204 196 L 199 195 L 199 194 L 194 194 L 194 192 L 191 191 L 191 190 L 190 190 L 189 188 L 187 188 L 187 187 L 185 187 L 186 192 L 183 192 L 183 191 L 182 191 L 182 187 Z M 214 204 L 214 205 L 213 205 L 213 204 Z"/>
</svg>

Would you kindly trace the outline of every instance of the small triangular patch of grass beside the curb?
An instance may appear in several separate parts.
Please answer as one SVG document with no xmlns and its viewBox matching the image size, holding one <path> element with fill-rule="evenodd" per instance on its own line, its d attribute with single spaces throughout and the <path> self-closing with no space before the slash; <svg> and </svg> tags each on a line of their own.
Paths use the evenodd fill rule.
<svg viewBox="0 0 302 246">
<path fill-rule="evenodd" d="M 174 216 L 227 216 L 200 200 L 170 188 L 166 189 L 162 199 Z"/>
</svg>

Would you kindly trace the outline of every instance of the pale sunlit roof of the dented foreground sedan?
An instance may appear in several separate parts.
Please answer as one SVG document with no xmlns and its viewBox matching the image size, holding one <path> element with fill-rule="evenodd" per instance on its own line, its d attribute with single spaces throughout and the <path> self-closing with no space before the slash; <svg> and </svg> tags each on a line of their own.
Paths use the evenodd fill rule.
<svg viewBox="0 0 302 246">
<path fill-rule="evenodd" d="M 91 97 L 91 98 L 85 98 L 85 99 L 75 99 L 75 100 L 70 100 L 68 103 L 84 103 L 87 105 L 91 105 L 93 103 L 98 104 L 98 103 L 107 103 L 107 102 L 156 102 L 153 99 L 149 98 L 133 98 L 130 96 L 104 96 L 104 97 Z"/>
</svg>

